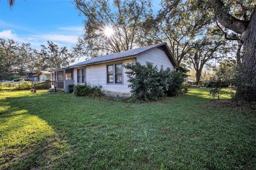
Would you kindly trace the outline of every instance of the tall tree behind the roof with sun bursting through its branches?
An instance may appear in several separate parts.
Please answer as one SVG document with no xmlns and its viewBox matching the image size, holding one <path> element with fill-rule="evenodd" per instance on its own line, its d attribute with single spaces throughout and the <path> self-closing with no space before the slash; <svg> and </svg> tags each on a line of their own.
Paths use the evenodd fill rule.
<svg viewBox="0 0 256 170">
<path fill-rule="evenodd" d="M 75 0 L 75 4 L 85 16 L 85 32 L 74 52 L 89 57 L 137 47 L 143 21 L 152 12 L 149 0 L 114 0 L 111 8 L 107 0 Z"/>
</svg>

